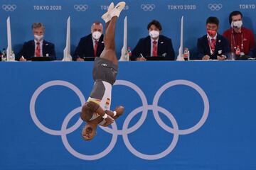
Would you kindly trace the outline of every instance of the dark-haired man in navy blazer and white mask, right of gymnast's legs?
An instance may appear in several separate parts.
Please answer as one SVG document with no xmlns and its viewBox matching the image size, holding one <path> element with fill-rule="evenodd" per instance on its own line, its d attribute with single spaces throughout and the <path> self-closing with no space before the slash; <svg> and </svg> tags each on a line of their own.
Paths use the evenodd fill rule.
<svg viewBox="0 0 256 170">
<path fill-rule="evenodd" d="M 165 60 L 174 60 L 174 48 L 170 38 L 160 35 L 162 27 L 159 21 L 151 21 L 147 29 L 149 36 L 142 38 L 132 50 L 131 60 L 146 61 L 145 57 L 161 56 Z"/>
</svg>

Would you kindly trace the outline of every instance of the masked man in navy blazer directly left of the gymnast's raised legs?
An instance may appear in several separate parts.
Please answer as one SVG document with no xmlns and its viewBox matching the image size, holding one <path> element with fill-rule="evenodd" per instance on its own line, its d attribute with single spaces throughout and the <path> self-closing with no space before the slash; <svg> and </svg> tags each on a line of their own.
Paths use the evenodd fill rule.
<svg viewBox="0 0 256 170">
<path fill-rule="evenodd" d="M 102 23 L 98 21 L 92 23 L 91 33 L 80 39 L 78 47 L 75 49 L 73 60 L 84 61 L 85 57 L 100 57 L 104 49 L 102 32 Z"/>
</svg>

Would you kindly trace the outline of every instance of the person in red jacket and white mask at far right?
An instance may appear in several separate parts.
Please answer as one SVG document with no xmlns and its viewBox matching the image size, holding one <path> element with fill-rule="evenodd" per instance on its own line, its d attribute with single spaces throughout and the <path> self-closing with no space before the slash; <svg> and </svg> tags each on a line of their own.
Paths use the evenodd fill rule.
<svg viewBox="0 0 256 170">
<path fill-rule="evenodd" d="M 255 46 L 252 30 L 242 26 L 242 13 L 240 11 L 230 13 L 229 22 L 231 28 L 225 30 L 223 36 L 228 38 L 231 52 L 234 52 L 235 55 L 248 55 Z"/>
</svg>

